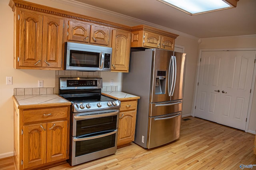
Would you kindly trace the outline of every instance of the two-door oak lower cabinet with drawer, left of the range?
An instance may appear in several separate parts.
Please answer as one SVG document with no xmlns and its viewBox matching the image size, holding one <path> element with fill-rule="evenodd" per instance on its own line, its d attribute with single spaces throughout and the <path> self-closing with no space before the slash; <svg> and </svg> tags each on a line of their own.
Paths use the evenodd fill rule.
<svg viewBox="0 0 256 170">
<path fill-rule="evenodd" d="M 18 109 L 14 105 L 14 110 L 14 160 L 18 170 L 68 159 L 70 106 Z"/>
</svg>

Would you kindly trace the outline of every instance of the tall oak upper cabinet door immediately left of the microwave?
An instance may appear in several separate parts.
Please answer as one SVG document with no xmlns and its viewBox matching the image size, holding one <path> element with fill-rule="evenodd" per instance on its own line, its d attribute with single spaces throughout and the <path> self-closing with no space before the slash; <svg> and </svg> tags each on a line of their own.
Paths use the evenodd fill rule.
<svg viewBox="0 0 256 170">
<path fill-rule="evenodd" d="M 62 66 L 64 18 L 44 16 L 42 66 Z"/>
</svg>

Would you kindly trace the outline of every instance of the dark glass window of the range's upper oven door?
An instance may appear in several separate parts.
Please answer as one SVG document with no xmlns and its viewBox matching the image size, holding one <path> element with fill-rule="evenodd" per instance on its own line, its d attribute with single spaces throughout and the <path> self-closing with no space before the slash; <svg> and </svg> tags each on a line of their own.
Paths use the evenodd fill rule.
<svg viewBox="0 0 256 170">
<path fill-rule="evenodd" d="M 116 129 L 117 115 L 76 121 L 76 136 Z"/>
</svg>

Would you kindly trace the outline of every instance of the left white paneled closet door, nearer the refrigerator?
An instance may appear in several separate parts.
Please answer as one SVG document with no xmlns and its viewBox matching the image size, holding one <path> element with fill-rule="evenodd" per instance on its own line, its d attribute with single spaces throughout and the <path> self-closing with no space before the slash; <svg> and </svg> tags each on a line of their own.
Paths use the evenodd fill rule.
<svg viewBox="0 0 256 170">
<path fill-rule="evenodd" d="M 196 100 L 196 117 L 216 121 L 224 62 L 221 51 L 203 51 Z M 219 91 L 218 91 L 219 90 Z"/>
</svg>

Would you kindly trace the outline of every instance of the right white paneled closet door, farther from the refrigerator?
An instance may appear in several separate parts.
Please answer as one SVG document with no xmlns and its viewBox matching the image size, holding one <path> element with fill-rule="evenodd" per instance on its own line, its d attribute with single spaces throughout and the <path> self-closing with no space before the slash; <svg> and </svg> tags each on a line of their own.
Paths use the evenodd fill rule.
<svg viewBox="0 0 256 170">
<path fill-rule="evenodd" d="M 220 97 L 218 123 L 245 130 L 255 51 L 228 51 Z"/>
</svg>

